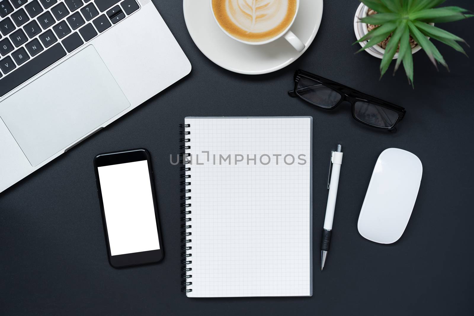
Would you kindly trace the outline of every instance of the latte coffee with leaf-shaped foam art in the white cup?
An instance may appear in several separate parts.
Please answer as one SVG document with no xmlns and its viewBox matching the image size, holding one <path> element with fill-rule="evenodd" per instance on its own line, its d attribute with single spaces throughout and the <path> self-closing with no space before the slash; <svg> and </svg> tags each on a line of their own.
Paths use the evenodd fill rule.
<svg viewBox="0 0 474 316">
<path fill-rule="evenodd" d="M 219 25 L 246 42 L 264 42 L 292 24 L 297 0 L 212 0 Z"/>
</svg>

